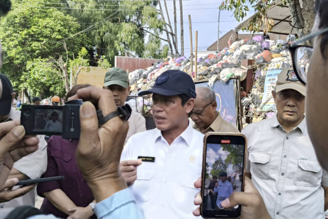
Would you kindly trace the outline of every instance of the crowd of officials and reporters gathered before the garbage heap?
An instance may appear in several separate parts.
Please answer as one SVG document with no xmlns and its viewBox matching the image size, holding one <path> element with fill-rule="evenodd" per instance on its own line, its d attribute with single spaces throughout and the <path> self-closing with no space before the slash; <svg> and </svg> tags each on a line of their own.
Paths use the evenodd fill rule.
<svg viewBox="0 0 328 219">
<path fill-rule="evenodd" d="M 308 68 L 296 60 L 293 68 L 278 75 L 272 92 L 277 116 L 242 130 L 249 146 L 244 191 L 239 191 L 241 183 L 235 184 L 237 178 L 230 175 L 229 180 L 227 172 L 219 174 L 219 181 L 213 176 L 206 183 L 211 209 L 240 205 L 242 218 L 324 218 L 328 208 L 328 97 L 322 95 L 328 92 L 327 3 L 316 1 L 312 34 L 291 45 L 295 52 L 310 40 L 313 52 Z M 238 130 L 222 121 L 213 93 L 196 89 L 190 75 L 179 70 L 163 72 L 152 89 L 139 93 L 152 94 L 155 129 L 146 130 L 145 119 L 138 114 L 132 113 L 126 121 L 117 107 L 124 105 L 129 93 L 127 77 L 124 70 L 111 68 L 103 88 L 73 87 L 68 100 L 85 101 L 80 107 L 80 138 L 52 136 L 47 143 L 42 135 L 25 135 L 17 120 L 20 112 L 11 107 L 11 82 L 0 74 L 2 217 L 200 215 L 200 207 L 193 211 L 195 205 L 209 204 L 199 193 L 203 133 Z M 115 116 L 105 116 L 107 121 L 99 126 L 95 106 L 104 115 L 115 112 Z M 57 116 L 51 113 L 50 121 L 57 121 Z M 38 194 L 45 197 L 40 210 L 34 208 L 36 185 L 15 186 L 18 180 L 58 174 L 70 180 L 37 185 Z"/>
</svg>

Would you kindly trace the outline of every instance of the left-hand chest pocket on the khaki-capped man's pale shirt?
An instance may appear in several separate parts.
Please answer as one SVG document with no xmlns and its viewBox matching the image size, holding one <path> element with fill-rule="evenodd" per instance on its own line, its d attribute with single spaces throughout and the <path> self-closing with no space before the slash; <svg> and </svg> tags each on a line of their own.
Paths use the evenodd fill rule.
<svg viewBox="0 0 328 219">
<path fill-rule="evenodd" d="M 250 152 L 251 173 L 263 180 L 268 180 L 270 176 L 270 157 L 271 154 L 267 152 Z"/>
</svg>

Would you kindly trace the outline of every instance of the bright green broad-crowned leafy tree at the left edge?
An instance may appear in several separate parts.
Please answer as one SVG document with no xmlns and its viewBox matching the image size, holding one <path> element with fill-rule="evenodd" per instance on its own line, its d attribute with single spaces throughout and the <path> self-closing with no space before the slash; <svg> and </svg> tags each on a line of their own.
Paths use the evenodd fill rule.
<svg viewBox="0 0 328 219">
<path fill-rule="evenodd" d="M 30 65 L 31 70 L 33 66 L 31 62 L 34 60 L 42 63 L 53 54 L 65 53 L 60 41 L 79 30 L 79 25 L 73 17 L 53 8 L 30 7 L 31 4 L 33 3 L 15 5 L 15 10 L 10 11 L 4 18 L 0 29 L 5 51 L 2 72 L 8 74 L 14 89 L 17 90 L 22 85 L 20 88 L 24 88 L 27 96 L 29 96 L 28 89 L 34 90 L 30 87 L 31 83 L 26 83 L 26 76 L 29 75 L 27 64 Z M 35 3 L 34 6 L 37 4 Z M 85 34 L 79 34 L 69 40 L 67 48 L 70 54 L 77 54 L 81 47 L 89 45 L 88 42 Z M 40 75 L 36 74 L 36 76 L 39 78 Z M 51 78 L 51 75 L 44 75 L 44 77 Z M 44 78 L 42 80 L 47 81 Z M 47 86 L 44 89 L 47 89 Z M 35 92 L 42 93 L 41 90 Z"/>
</svg>

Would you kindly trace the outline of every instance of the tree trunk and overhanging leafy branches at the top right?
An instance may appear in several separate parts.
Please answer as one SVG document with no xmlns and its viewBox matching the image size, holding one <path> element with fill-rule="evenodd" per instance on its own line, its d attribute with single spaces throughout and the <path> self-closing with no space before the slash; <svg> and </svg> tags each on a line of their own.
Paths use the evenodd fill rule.
<svg viewBox="0 0 328 219">
<path fill-rule="evenodd" d="M 255 12 L 255 15 L 247 27 L 249 31 L 257 32 L 264 24 L 263 32 L 270 32 L 274 21 L 272 18 L 268 17 L 267 11 L 274 5 L 279 5 L 281 7 L 289 5 L 292 24 L 297 29 L 298 36 L 308 34 L 314 23 L 314 0 L 224 0 L 219 8 L 220 10 L 234 11 L 235 18 L 240 22 L 247 16 L 247 12 L 249 11 L 248 5 L 250 5 Z"/>
</svg>

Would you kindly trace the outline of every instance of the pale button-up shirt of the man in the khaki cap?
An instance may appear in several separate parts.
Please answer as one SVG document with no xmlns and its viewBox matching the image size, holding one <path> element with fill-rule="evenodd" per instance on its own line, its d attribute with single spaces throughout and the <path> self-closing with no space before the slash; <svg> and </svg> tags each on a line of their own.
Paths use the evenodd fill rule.
<svg viewBox="0 0 328 219">
<path fill-rule="evenodd" d="M 251 172 L 271 217 L 324 218 L 322 186 L 328 186 L 328 176 L 318 163 L 305 118 L 288 134 L 276 116 L 241 133 L 248 141 L 245 172 Z"/>
</svg>

